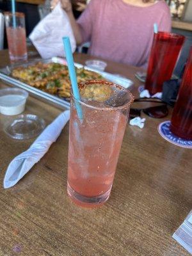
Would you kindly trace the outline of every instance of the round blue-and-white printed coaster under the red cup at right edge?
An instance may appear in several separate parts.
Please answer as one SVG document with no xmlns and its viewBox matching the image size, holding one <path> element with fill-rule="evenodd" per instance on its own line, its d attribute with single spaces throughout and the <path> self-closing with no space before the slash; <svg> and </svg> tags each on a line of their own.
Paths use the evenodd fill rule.
<svg viewBox="0 0 192 256">
<path fill-rule="evenodd" d="M 164 138 L 164 140 L 167 140 L 170 143 L 182 148 L 192 148 L 192 140 L 184 140 L 182 138 L 175 136 L 170 131 L 170 124 L 171 124 L 170 121 L 165 121 L 159 124 L 158 131 L 159 131 L 159 134 Z"/>
</svg>

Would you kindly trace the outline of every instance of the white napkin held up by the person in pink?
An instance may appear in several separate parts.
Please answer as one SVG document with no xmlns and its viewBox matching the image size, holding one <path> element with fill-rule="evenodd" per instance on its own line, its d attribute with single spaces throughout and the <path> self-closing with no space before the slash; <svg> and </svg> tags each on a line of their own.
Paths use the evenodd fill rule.
<svg viewBox="0 0 192 256">
<path fill-rule="evenodd" d="M 56 8 L 36 25 L 29 38 L 42 58 L 52 58 L 65 56 L 63 36 L 70 38 L 72 52 L 76 51 L 76 39 L 68 15 L 59 2 Z"/>
</svg>

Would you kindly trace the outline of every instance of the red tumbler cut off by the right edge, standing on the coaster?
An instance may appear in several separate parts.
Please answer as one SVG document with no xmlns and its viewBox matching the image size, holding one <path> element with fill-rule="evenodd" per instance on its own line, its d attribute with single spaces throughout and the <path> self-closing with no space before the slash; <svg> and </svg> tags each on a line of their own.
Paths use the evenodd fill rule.
<svg viewBox="0 0 192 256">
<path fill-rule="evenodd" d="M 171 120 L 173 134 L 192 140 L 192 47 Z"/>
</svg>

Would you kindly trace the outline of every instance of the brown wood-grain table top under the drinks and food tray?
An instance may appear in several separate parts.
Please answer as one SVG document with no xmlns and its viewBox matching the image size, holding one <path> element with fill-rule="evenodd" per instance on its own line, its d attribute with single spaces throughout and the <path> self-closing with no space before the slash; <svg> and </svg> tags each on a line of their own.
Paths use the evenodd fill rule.
<svg viewBox="0 0 192 256">
<path fill-rule="evenodd" d="M 8 63 L 0 52 L 1 67 Z M 84 63 L 90 56 L 75 54 Z M 108 62 L 108 71 L 134 80 L 138 68 Z M 3 84 L 1 83 L 1 87 Z M 57 109 L 29 97 L 26 113 L 47 124 Z M 77 207 L 67 193 L 68 125 L 49 152 L 10 189 L 6 168 L 33 140 L 12 140 L 0 115 L 0 255 L 19 256 L 185 256 L 172 238 L 191 210 L 191 150 L 163 140 L 157 125 L 170 116 L 147 118 L 145 128 L 127 125 L 111 196 L 99 209 Z"/>
</svg>

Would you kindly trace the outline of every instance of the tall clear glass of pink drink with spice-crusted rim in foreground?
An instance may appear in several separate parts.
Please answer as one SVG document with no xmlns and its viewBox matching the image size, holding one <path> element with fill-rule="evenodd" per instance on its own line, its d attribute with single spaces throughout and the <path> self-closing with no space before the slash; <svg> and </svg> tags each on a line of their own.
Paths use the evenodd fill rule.
<svg viewBox="0 0 192 256">
<path fill-rule="evenodd" d="M 67 191 L 76 204 L 95 207 L 109 198 L 133 96 L 106 81 L 80 83 L 79 91 L 81 101 L 71 95 Z"/>
</svg>

